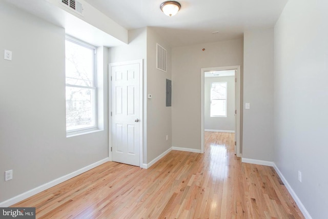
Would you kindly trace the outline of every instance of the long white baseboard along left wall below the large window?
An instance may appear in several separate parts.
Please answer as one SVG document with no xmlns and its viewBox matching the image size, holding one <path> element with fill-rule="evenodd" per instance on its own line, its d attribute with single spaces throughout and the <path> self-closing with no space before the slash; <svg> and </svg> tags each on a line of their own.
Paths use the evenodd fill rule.
<svg viewBox="0 0 328 219">
<path fill-rule="evenodd" d="M 74 171 L 72 173 L 69 173 L 67 175 L 61 176 L 59 178 L 56 178 L 56 180 L 53 180 L 53 181 L 51 181 L 49 183 L 46 183 L 46 184 L 41 185 L 41 186 L 38 186 L 38 187 L 36 187 L 34 189 L 31 189 L 31 190 L 29 190 L 27 192 L 24 192 L 22 194 L 19 194 L 19 195 L 15 196 L 15 197 L 10 198 L 9 200 L 6 200 L 6 201 L 0 203 L 0 207 L 9 207 L 11 205 L 14 205 L 14 204 L 16 204 L 16 203 L 18 203 L 20 201 L 25 200 L 28 197 L 31 197 L 32 195 L 35 195 L 35 194 L 37 194 L 39 192 L 42 192 L 42 191 L 44 191 L 46 189 L 49 189 L 49 188 L 51 188 L 53 186 L 56 186 L 56 185 L 58 185 L 60 183 L 63 183 L 65 181 L 69 180 L 70 178 L 73 178 L 73 177 L 75 177 L 75 176 L 77 176 L 77 175 L 79 175 L 81 173 L 87 172 L 88 170 L 91 170 L 91 169 L 93 169 L 93 168 L 95 168 L 95 167 L 97 167 L 97 166 L 99 166 L 101 164 L 104 164 L 104 163 L 108 162 L 108 161 L 109 161 L 109 158 L 107 157 L 104 160 L 98 161 L 96 163 L 90 164 L 89 166 L 86 166 L 84 168 L 81 168 L 79 170 L 76 170 L 76 171 Z"/>
</svg>

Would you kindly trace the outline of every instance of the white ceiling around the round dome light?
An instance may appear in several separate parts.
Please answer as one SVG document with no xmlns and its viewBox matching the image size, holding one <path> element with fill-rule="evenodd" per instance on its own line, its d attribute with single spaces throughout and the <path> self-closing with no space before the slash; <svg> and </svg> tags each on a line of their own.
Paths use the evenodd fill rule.
<svg viewBox="0 0 328 219">
<path fill-rule="evenodd" d="M 159 9 L 164 0 L 85 1 L 128 30 L 154 27 L 173 47 L 234 39 L 245 30 L 273 27 L 288 2 L 178 0 L 181 10 L 169 17 Z"/>
</svg>

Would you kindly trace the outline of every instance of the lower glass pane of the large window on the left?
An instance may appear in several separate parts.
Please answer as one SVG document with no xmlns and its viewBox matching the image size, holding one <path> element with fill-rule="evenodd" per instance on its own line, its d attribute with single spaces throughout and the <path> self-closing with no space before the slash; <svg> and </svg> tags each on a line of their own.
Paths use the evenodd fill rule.
<svg viewBox="0 0 328 219">
<path fill-rule="evenodd" d="M 95 127 L 94 89 L 66 87 L 66 130 Z"/>
</svg>

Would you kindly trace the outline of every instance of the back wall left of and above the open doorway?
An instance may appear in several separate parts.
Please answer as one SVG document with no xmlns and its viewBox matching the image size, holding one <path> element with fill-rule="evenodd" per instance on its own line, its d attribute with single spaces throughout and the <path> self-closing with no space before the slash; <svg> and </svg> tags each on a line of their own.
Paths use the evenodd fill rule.
<svg viewBox="0 0 328 219">
<path fill-rule="evenodd" d="M 242 38 L 172 48 L 172 146 L 200 150 L 200 69 L 242 63 Z"/>
</svg>

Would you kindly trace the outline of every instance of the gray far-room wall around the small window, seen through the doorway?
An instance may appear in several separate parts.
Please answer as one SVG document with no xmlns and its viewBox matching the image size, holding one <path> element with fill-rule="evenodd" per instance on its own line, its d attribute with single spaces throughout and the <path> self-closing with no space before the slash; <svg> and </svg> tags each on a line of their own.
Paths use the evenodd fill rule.
<svg viewBox="0 0 328 219">
<path fill-rule="evenodd" d="M 211 117 L 211 84 L 227 82 L 227 117 Z M 205 77 L 204 129 L 235 131 L 235 76 Z"/>
</svg>

